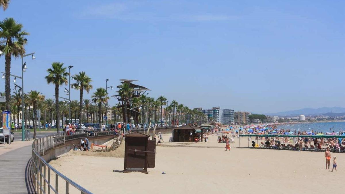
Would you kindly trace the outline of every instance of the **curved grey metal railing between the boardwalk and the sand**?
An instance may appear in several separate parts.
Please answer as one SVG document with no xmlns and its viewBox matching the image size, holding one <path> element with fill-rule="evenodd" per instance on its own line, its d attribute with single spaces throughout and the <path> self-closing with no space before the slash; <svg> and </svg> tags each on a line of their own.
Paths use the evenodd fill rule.
<svg viewBox="0 0 345 194">
<path fill-rule="evenodd" d="M 92 136 L 106 136 L 114 135 L 114 131 L 109 132 L 94 132 Z M 52 191 L 53 193 L 59 193 L 59 178 L 62 178 L 66 182 L 65 192 L 69 193 L 69 186 L 73 186 L 81 192 L 81 194 L 91 194 L 90 191 L 86 190 L 82 186 L 78 185 L 74 181 L 70 180 L 65 175 L 61 174 L 54 167 L 48 164 L 42 157 L 47 151 L 57 147 L 59 145 L 65 144 L 66 140 L 78 139 L 83 137 L 89 137 L 89 133 L 76 133 L 74 135 L 66 135 L 66 132 L 58 132 L 55 134 L 47 135 L 45 137 L 35 139 L 32 143 L 32 170 L 31 177 L 32 183 L 36 192 L 38 193 L 48 193 Z M 47 176 L 48 168 L 48 176 Z M 55 186 L 51 184 L 51 171 L 55 173 Z"/>
</svg>

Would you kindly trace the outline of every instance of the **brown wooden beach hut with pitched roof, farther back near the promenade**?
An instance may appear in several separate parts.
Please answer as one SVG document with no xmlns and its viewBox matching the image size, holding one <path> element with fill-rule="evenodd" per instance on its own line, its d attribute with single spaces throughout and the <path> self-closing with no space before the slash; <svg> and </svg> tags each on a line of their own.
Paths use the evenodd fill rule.
<svg viewBox="0 0 345 194">
<path fill-rule="evenodd" d="M 196 133 L 201 133 L 201 141 L 203 141 L 203 129 L 194 125 L 184 125 L 174 128 L 172 140 L 174 142 L 194 142 Z"/>
</svg>

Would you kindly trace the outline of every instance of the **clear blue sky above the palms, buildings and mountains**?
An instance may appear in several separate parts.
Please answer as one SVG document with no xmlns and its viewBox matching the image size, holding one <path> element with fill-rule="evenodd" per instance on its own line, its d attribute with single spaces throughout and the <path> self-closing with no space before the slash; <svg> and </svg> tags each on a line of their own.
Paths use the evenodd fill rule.
<svg viewBox="0 0 345 194">
<path fill-rule="evenodd" d="M 26 91 L 52 98 L 44 77 L 59 61 L 86 71 L 95 89 L 137 79 L 190 108 L 266 113 L 343 107 L 344 14 L 343 1 L 12 0 L 0 19 L 30 32 Z"/>
</svg>

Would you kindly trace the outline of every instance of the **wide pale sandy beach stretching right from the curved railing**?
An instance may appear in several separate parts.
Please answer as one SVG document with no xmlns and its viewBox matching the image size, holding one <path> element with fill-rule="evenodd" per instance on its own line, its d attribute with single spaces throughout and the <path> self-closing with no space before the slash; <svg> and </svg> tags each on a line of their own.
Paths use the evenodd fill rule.
<svg viewBox="0 0 345 194">
<path fill-rule="evenodd" d="M 170 136 L 164 134 L 164 140 Z M 93 193 L 290 194 L 343 190 L 344 154 L 331 153 L 332 158 L 337 156 L 338 171 L 329 172 L 323 152 L 238 148 L 238 138 L 225 152 L 225 143 L 217 143 L 217 137 L 210 135 L 207 143 L 158 145 L 156 167 L 149 168 L 149 174 L 122 173 L 121 154 L 103 157 L 68 153 L 50 164 Z M 247 141 L 241 138 L 241 147 L 247 146 Z M 79 192 L 70 187 L 70 193 Z"/>
</svg>

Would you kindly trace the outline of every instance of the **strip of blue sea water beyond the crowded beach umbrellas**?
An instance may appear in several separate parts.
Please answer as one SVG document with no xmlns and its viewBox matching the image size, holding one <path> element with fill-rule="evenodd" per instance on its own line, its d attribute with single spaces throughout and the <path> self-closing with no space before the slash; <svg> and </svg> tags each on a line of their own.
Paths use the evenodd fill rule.
<svg viewBox="0 0 345 194">
<path fill-rule="evenodd" d="M 338 133 L 339 130 L 345 130 L 345 122 L 325 122 L 325 123 L 299 123 L 290 125 L 279 125 L 279 129 L 291 129 L 300 131 L 310 131 L 314 132 L 335 132 Z"/>
</svg>

